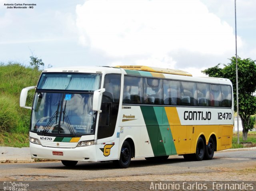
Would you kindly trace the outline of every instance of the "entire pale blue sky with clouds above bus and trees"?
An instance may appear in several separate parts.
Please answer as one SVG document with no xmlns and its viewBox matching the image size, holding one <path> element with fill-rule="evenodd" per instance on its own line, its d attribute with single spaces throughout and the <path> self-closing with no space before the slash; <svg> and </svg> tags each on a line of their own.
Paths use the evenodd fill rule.
<svg viewBox="0 0 256 191">
<path fill-rule="evenodd" d="M 235 56 L 234 0 L 0 0 L 0 62 L 146 65 L 193 76 Z M 4 4 L 36 4 L 14 9 Z M 256 0 L 236 0 L 237 47 L 256 60 Z"/>
</svg>

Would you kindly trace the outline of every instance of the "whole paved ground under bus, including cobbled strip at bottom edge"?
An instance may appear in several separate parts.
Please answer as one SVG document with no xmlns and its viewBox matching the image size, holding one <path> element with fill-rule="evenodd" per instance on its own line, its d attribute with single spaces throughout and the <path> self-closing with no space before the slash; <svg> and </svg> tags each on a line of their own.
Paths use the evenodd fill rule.
<svg viewBox="0 0 256 191">
<path fill-rule="evenodd" d="M 255 177 L 256 150 L 217 152 L 210 161 L 184 161 L 182 156 L 170 156 L 164 162 L 134 159 L 128 169 L 116 169 L 112 162 L 78 162 L 74 168 L 67 168 L 61 162 L 0 164 L 0 190 L 4 190 L 7 184 L 15 183 L 14 189 L 28 191 L 138 191 L 152 190 L 153 185 L 161 182 L 170 186 L 175 183 L 179 187 L 170 187 L 169 190 L 200 190 L 200 187 L 189 189 L 190 184 L 197 183 L 204 183 L 206 190 L 213 190 L 213 181 L 242 186 L 247 183 L 255 190 Z M 27 187 L 24 187 L 26 184 Z"/>
</svg>

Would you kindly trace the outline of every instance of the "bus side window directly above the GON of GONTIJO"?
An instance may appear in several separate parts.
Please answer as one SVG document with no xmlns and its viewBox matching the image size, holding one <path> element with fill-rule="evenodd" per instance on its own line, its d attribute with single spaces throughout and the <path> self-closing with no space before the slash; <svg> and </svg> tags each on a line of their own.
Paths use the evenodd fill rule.
<svg viewBox="0 0 256 191">
<path fill-rule="evenodd" d="M 181 105 L 198 105 L 196 83 L 181 82 Z"/>
</svg>

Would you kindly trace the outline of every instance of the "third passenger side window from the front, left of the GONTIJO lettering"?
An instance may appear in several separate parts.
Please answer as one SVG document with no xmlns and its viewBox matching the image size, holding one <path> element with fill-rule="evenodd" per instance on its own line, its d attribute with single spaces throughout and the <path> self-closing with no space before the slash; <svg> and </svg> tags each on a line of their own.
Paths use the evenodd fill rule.
<svg viewBox="0 0 256 191">
<path fill-rule="evenodd" d="M 180 81 L 164 80 L 164 104 L 180 105 Z"/>
</svg>

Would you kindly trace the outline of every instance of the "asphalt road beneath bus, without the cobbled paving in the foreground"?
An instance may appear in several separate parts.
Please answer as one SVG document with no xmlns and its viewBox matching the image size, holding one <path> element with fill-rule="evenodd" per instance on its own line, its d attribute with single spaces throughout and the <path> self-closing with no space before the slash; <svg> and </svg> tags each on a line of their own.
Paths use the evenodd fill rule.
<svg viewBox="0 0 256 191">
<path fill-rule="evenodd" d="M 104 180 L 124 176 L 234 171 L 246 167 L 256 167 L 256 150 L 217 152 L 214 159 L 208 161 L 184 161 L 182 156 L 170 156 L 167 161 L 134 159 L 128 169 L 116 169 L 112 162 L 78 162 L 73 168 L 65 167 L 61 162 L 2 163 L 0 181 Z"/>
</svg>

